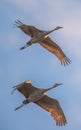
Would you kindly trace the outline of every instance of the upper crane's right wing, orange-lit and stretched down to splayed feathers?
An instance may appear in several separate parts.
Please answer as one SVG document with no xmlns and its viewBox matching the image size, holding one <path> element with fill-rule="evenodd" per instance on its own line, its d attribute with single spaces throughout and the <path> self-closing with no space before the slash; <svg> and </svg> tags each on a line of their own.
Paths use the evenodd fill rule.
<svg viewBox="0 0 81 130">
<path fill-rule="evenodd" d="M 61 64 L 66 66 L 71 63 L 70 59 L 66 57 L 62 49 L 49 37 L 41 41 L 39 44 L 49 52 L 53 53 L 60 60 Z"/>
</svg>

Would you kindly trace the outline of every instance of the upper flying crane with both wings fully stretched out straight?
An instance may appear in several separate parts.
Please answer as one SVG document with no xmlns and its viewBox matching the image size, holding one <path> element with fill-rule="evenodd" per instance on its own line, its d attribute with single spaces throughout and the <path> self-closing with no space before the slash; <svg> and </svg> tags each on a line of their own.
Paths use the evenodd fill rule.
<svg viewBox="0 0 81 130">
<path fill-rule="evenodd" d="M 34 26 L 23 24 L 21 21 L 17 20 L 14 24 L 16 27 L 20 28 L 25 34 L 29 35 L 31 39 L 26 43 L 25 46 L 21 47 L 20 50 L 23 50 L 32 44 L 39 43 L 46 50 L 54 54 L 64 66 L 71 63 L 71 60 L 64 54 L 60 46 L 58 46 L 54 41 L 48 36 L 53 31 L 61 29 L 63 27 L 57 26 L 53 30 L 43 31 L 39 30 Z"/>
</svg>

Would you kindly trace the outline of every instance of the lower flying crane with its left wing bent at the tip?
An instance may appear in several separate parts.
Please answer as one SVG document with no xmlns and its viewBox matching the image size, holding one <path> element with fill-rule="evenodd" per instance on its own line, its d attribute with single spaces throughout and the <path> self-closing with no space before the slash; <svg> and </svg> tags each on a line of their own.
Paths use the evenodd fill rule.
<svg viewBox="0 0 81 130">
<path fill-rule="evenodd" d="M 47 112 L 51 114 L 51 116 L 54 118 L 56 121 L 56 125 L 62 126 L 65 125 L 66 122 L 66 117 L 63 113 L 62 108 L 60 107 L 59 102 L 56 99 L 50 98 L 46 95 L 47 91 L 50 91 L 51 89 L 58 87 L 60 84 L 55 84 L 50 88 L 47 89 L 40 89 L 36 88 L 31 84 L 30 80 L 27 80 L 26 82 L 23 82 L 17 86 L 14 87 L 13 92 L 17 89 L 22 95 L 25 96 L 25 100 L 23 103 L 17 107 L 15 110 L 20 109 L 24 105 L 28 103 L 35 103 Z"/>
</svg>

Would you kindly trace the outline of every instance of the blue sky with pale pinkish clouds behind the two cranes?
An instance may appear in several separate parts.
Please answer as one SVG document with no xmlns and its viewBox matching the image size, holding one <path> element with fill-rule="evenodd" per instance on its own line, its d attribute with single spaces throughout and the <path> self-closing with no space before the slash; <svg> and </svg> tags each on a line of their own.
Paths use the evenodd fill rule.
<svg viewBox="0 0 81 130">
<path fill-rule="evenodd" d="M 14 26 L 19 19 L 41 30 L 62 26 L 50 34 L 72 61 L 67 67 L 40 45 L 20 51 L 30 39 Z M 24 97 L 13 86 L 31 80 L 35 87 L 59 101 L 67 124 L 55 125 L 53 118 L 31 103 L 18 111 Z M 81 129 L 81 0 L 2 0 L 0 2 L 0 129 L 1 130 L 73 130 Z"/>
</svg>

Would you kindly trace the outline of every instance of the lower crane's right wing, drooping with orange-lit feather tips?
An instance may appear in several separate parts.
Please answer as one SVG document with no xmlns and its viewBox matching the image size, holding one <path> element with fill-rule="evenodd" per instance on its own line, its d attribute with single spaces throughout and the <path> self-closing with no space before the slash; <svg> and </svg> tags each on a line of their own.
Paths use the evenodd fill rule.
<svg viewBox="0 0 81 130">
<path fill-rule="evenodd" d="M 56 99 L 52 99 L 45 95 L 42 99 L 34 103 L 48 111 L 55 119 L 56 125 L 62 126 L 66 124 L 65 115 L 59 105 L 59 102 Z"/>
</svg>

